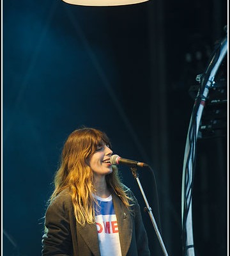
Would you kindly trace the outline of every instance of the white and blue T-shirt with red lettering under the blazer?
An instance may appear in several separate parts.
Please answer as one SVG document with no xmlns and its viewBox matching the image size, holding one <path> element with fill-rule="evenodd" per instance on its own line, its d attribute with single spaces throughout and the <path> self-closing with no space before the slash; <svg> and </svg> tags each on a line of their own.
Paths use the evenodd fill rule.
<svg viewBox="0 0 230 256">
<path fill-rule="evenodd" d="M 95 211 L 95 218 L 101 256 L 121 256 L 118 221 L 112 204 L 112 195 L 107 198 L 96 196 L 96 199 L 100 205 L 100 209 Z"/>
</svg>

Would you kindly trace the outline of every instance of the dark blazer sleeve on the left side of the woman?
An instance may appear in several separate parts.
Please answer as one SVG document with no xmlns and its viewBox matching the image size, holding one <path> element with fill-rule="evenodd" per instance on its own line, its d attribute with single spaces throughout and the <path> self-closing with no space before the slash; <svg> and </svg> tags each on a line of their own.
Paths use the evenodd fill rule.
<svg viewBox="0 0 230 256">
<path fill-rule="evenodd" d="M 45 234 L 42 237 L 42 256 L 72 255 L 70 207 L 68 200 L 57 196 L 45 213 Z"/>
</svg>

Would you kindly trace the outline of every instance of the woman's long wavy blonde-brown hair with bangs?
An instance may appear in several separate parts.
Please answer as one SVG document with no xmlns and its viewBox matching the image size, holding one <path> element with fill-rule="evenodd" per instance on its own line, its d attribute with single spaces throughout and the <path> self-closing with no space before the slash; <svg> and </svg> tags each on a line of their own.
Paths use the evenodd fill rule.
<svg viewBox="0 0 230 256">
<path fill-rule="evenodd" d="M 54 177 L 55 189 L 50 196 L 51 203 L 56 196 L 66 188 L 70 188 L 75 218 L 78 223 L 95 223 L 95 188 L 93 186 L 93 171 L 87 164 L 96 148 L 103 144 L 111 146 L 107 135 L 93 128 L 82 128 L 73 131 L 68 136 L 61 154 L 61 164 Z M 123 204 L 130 209 L 132 198 L 127 196 L 121 183 L 116 166 L 112 173 L 106 175 L 107 186 L 121 198 Z"/>
</svg>

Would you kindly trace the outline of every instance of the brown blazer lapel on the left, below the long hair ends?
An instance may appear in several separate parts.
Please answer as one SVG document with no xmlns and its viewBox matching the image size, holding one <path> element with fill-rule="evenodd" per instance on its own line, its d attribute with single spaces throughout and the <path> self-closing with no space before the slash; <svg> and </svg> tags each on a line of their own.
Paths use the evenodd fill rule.
<svg viewBox="0 0 230 256">
<path fill-rule="evenodd" d="M 81 234 L 82 239 L 84 239 L 93 255 L 100 256 L 96 225 L 86 223 L 86 225 L 82 227 L 77 223 L 77 228 L 79 230 L 79 234 Z"/>
</svg>

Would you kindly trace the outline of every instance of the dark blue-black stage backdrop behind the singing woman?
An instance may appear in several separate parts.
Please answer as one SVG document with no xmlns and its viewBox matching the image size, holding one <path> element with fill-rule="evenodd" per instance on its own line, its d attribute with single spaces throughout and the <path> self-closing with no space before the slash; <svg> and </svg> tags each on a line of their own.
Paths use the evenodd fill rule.
<svg viewBox="0 0 230 256">
<path fill-rule="evenodd" d="M 153 168 L 162 239 L 182 255 L 181 179 L 189 93 L 217 40 L 227 0 L 73 6 L 3 0 L 3 255 L 41 255 L 43 216 L 63 142 L 82 125 L 114 154 Z M 226 77 L 225 77 L 226 78 Z M 197 141 L 196 255 L 227 255 L 227 136 Z M 123 182 L 144 202 L 129 168 Z M 155 180 L 139 170 L 158 221 Z M 163 255 L 142 212 L 152 255 Z"/>
</svg>

